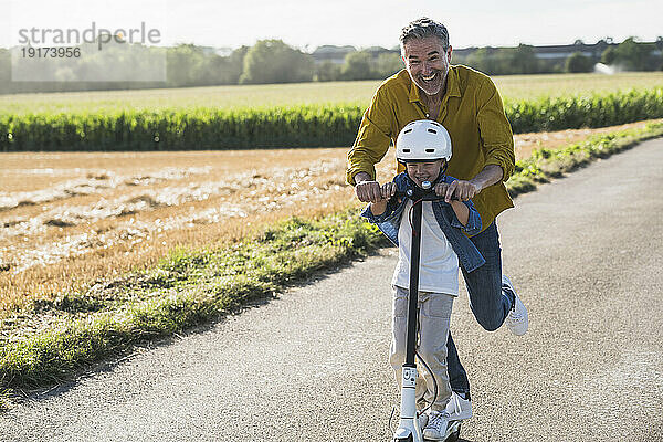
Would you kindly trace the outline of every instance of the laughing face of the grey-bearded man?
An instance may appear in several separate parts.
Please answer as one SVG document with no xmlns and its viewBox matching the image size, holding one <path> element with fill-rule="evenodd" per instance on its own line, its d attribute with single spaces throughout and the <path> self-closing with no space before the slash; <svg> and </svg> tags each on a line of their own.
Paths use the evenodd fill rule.
<svg viewBox="0 0 663 442">
<path fill-rule="evenodd" d="M 435 95 L 446 84 L 451 46 L 446 51 L 436 36 L 410 39 L 402 48 L 406 69 L 412 81 L 427 95 Z"/>
</svg>

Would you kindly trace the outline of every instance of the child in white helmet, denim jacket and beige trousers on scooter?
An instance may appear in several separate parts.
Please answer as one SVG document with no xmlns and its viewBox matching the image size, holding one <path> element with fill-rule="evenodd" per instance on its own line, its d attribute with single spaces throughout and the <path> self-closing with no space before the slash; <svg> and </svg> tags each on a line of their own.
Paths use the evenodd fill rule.
<svg viewBox="0 0 663 442">
<path fill-rule="evenodd" d="M 463 234 L 476 234 L 482 222 L 472 201 L 412 201 L 396 198 L 408 189 L 430 188 L 438 196 L 445 196 L 455 178 L 444 175 L 451 158 L 451 139 L 446 129 L 436 122 L 422 119 L 403 127 L 398 136 L 397 159 L 406 165 L 406 172 L 380 188 L 382 200 L 370 203 L 362 217 L 376 223 L 399 246 L 399 261 L 391 284 L 394 290 L 392 315 L 392 341 L 389 361 L 401 382 L 402 364 L 406 358 L 406 333 L 408 293 L 410 282 L 410 250 L 412 229 L 410 208 L 422 206 L 421 259 L 419 276 L 419 345 L 418 354 L 430 367 L 431 373 L 422 370 L 418 379 L 417 398 L 430 404 L 428 415 L 420 422 L 427 440 L 442 440 L 449 414 L 444 411 L 451 398 L 451 386 L 446 372 L 446 337 L 453 298 L 459 295 L 459 260 L 472 272 L 483 265 L 484 259 L 474 244 Z M 427 182 L 428 181 L 428 182 Z M 428 418 L 428 419 L 427 419 Z"/>
</svg>

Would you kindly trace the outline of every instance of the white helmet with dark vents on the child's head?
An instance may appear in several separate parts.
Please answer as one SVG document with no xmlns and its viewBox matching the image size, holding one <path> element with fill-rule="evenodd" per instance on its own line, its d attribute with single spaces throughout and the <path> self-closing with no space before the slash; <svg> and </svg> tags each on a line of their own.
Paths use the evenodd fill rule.
<svg viewBox="0 0 663 442">
<path fill-rule="evenodd" d="M 438 122 L 418 119 L 408 123 L 396 140 L 396 159 L 399 162 L 451 159 L 451 137 Z"/>
</svg>

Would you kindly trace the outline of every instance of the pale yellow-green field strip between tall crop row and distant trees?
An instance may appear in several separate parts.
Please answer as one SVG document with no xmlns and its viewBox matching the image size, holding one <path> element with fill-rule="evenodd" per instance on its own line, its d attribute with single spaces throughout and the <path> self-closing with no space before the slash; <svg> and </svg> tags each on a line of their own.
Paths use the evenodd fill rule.
<svg viewBox="0 0 663 442">
<path fill-rule="evenodd" d="M 494 81 L 505 101 L 663 86 L 663 72 L 508 75 Z M 301 104 L 367 106 L 379 81 L 182 87 L 0 96 L 1 114 L 105 113 L 120 109 L 269 108 Z"/>
</svg>

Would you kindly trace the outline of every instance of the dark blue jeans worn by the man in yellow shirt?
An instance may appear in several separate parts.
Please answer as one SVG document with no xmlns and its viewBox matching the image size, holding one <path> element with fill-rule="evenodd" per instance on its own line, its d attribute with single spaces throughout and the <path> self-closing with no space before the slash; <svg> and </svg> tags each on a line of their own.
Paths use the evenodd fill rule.
<svg viewBox="0 0 663 442">
<path fill-rule="evenodd" d="M 512 297 L 502 292 L 502 249 L 497 224 L 493 222 L 483 232 L 470 238 L 486 263 L 472 273 L 461 266 L 470 294 L 470 308 L 474 317 L 488 332 L 502 326 L 512 308 Z M 470 392 L 467 373 L 461 365 L 455 344 L 449 334 L 446 339 L 446 365 L 451 389 L 459 393 Z"/>
</svg>

